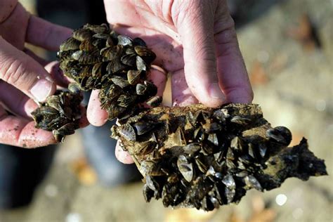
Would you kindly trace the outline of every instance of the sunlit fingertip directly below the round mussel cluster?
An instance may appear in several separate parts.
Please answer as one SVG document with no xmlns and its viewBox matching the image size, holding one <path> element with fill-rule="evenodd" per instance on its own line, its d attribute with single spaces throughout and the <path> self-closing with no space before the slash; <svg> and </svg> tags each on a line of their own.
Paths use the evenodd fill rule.
<svg viewBox="0 0 333 222">
<path fill-rule="evenodd" d="M 93 90 L 88 103 L 87 118 L 93 126 L 103 126 L 107 122 L 107 112 L 100 107 L 99 90 Z"/>
</svg>

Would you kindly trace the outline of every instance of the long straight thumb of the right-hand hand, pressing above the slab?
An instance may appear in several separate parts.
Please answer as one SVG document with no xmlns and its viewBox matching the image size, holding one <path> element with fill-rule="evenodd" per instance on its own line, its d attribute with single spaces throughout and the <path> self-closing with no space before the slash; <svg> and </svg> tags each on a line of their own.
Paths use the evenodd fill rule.
<svg viewBox="0 0 333 222">
<path fill-rule="evenodd" d="M 216 107 L 226 101 L 216 72 L 214 14 L 217 7 L 214 1 L 190 2 L 176 20 L 183 43 L 185 79 L 201 103 Z"/>
</svg>

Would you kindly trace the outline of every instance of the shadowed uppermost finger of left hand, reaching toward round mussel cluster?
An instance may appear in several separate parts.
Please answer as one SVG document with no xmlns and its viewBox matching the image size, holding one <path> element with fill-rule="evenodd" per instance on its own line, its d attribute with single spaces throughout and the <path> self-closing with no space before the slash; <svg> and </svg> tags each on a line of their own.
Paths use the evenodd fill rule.
<svg viewBox="0 0 333 222">
<path fill-rule="evenodd" d="M 25 40 L 35 46 L 58 51 L 60 44 L 71 34 L 72 30 L 67 27 L 31 15 Z"/>
</svg>

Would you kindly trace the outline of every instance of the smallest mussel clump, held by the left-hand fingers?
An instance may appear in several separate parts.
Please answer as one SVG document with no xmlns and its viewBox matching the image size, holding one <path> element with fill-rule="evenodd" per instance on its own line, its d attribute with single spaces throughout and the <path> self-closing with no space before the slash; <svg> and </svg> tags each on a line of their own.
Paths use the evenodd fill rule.
<svg viewBox="0 0 333 222">
<path fill-rule="evenodd" d="M 83 96 L 74 84 L 70 84 L 69 89 L 70 91 L 56 91 L 32 112 L 35 127 L 52 131 L 57 142 L 63 142 L 65 136 L 79 129 Z"/>
</svg>

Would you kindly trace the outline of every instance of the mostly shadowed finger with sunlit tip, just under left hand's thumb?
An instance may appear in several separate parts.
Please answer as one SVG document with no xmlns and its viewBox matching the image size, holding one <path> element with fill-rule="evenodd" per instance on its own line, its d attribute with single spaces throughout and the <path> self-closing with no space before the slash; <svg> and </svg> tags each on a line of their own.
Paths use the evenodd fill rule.
<svg viewBox="0 0 333 222">
<path fill-rule="evenodd" d="M 15 115 L 30 119 L 38 105 L 15 87 L 0 81 L 0 101 Z"/>
</svg>

